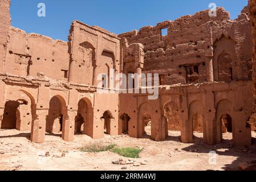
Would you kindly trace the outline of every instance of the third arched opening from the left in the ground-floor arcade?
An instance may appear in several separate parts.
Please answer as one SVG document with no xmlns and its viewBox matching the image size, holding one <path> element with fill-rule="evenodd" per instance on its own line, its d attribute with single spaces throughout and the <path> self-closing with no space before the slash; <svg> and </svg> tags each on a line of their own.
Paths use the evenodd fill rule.
<svg viewBox="0 0 256 182">
<path fill-rule="evenodd" d="M 88 98 L 82 98 L 78 102 L 78 115 L 75 118 L 75 134 L 86 134 L 92 137 L 93 109 Z"/>
</svg>

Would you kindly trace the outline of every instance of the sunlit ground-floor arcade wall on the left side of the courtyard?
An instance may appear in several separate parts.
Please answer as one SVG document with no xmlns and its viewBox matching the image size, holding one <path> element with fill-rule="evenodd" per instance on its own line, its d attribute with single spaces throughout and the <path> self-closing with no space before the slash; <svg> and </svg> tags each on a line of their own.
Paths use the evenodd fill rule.
<svg viewBox="0 0 256 182">
<path fill-rule="evenodd" d="M 97 94 L 91 86 L 46 78 L 27 80 L 1 73 L 0 80 L 0 126 L 3 129 L 31 130 L 31 140 L 42 143 L 46 132 L 59 133 L 59 117 L 62 116 L 62 137 L 72 141 L 80 114 L 84 122 L 83 134 L 103 138 L 103 117 L 108 112 L 111 115 L 109 134 L 118 134 L 118 94 Z"/>
</svg>

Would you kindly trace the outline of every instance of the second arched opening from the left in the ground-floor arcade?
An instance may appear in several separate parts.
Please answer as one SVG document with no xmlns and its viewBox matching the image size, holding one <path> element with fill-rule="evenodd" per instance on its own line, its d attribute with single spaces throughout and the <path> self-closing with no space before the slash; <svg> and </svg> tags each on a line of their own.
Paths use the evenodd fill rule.
<svg viewBox="0 0 256 182">
<path fill-rule="evenodd" d="M 63 126 L 66 116 L 67 107 L 64 98 L 61 96 L 52 97 L 46 118 L 46 132 L 49 134 L 63 135 Z"/>
</svg>

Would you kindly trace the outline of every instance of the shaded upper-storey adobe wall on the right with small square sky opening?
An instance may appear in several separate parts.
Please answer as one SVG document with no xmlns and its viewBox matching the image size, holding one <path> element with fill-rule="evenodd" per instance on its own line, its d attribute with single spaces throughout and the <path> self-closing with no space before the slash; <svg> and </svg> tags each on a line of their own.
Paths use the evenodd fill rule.
<svg viewBox="0 0 256 182">
<path fill-rule="evenodd" d="M 217 73 L 219 67 L 224 78 L 220 81 L 229 81 L 229 72 L 232 72 L 233 80 L 251 78 L 252 43 L 247 15 L 243 13 L 238 19 L 230 20 L 229 13 L 222 8 L 217 9 L 216 17 L 210 17 L 208 13 L 209 10 L 200 11 L 119 37 L 126 38 L 128 44 L 143 44 L 143 72 L 160 73 L 162 85 L 219 81 L 218 75 L 211 75 L 213 71 Z M 168 35 L 161 35 L 163 28 L 168 28 Z M 221 55 L 223 52 L 227 55 Z M 230 65 L 218 65 L 219 59 L 220 62 L 229 60 Z M 124 62 L 129 60 L 132 58 L 124 57 Z"/>
</svg>

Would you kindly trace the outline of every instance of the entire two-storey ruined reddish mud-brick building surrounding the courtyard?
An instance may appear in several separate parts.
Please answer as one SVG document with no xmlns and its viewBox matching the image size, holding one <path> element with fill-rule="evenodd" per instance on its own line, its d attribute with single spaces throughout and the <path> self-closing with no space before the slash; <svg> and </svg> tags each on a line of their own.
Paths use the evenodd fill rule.
<svg viewBox="0 0 256 182">
<path fill-rule="evenodd" d="M 66 141 L 81 131 L 141 138 L 150 121 L 157 141 L 180 130 L 181 142 L 198 131 L 207 144 L 221 143 L 224 132 L 235 145 L 251 144 L 256 63 L 248 7 L 235 20 L 218 8 L 217 16 L 205 10 L 121 35 L 74 20 L 68 42 L 11 27 L 9 7 L 0 0 L 1 129 L 31 131 L 38 143 L 60 131 Z M 111 82 L 112 70 L 159 73 L 159 97 L 97 92 L 97 76 Z"/>
</svg>

